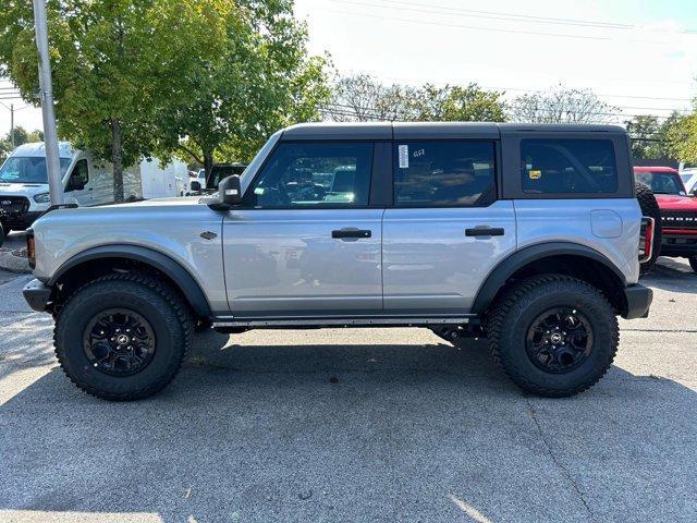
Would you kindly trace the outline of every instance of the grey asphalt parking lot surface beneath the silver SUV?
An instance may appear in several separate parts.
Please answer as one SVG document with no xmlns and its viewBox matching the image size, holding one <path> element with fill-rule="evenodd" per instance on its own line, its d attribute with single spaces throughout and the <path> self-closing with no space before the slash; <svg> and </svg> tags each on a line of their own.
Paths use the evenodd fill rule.
<svg viewBox="0 0 697 523">
<path fill-rule="evenodd" d="M 0 275 L 0 521 L 697 521 L 697 276 L 662 259 L 608 376 L 526 396 L 420 329 L 209 332 L 159 396 L 62 375 Z"/>
</svg>

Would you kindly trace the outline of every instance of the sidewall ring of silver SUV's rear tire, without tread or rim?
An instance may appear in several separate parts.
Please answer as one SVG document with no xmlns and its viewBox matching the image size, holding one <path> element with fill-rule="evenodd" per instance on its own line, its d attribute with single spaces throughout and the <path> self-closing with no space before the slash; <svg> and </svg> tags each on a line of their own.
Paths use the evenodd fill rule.
<svg viewBox="0 0 697 523">
<path fill-rule="evenodd" d="M 501 337 L 499 351 L 502 363 L 516 380 L 529 381 L 536 387 L 554 390 L 576 389 L 595 382 L 598 373 L 612 363 L 616 351 L 616 319 L 610 305 L 588 289 L 549 290 L 542 285 L 509 312 L 508 328 Z M 530 360 L 526 349 L 527 332 L 533 321 L 554 307 L 571 307 L 583 314 L 592 329 L 594 342 L 587 358 L 567 373 L 548 373 Z"/>
</svg>

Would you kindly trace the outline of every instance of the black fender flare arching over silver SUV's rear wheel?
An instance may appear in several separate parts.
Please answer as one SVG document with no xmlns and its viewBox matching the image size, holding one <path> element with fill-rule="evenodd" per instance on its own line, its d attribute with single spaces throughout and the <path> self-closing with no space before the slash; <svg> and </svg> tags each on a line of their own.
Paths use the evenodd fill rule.
<svg viewBox="0 0 697 523">
<path fill-rule="evenodd" d="M 499 263 L 487 276 L 472 305 L 473 314 L 484 313 L 493 302 L 499 290 L 505 284 L 517 270 L 542 258 L 552 256 L 577 256 L 594 262 L 598 262 L 608 268 L 623 285 L 626 285 L 626 278 L 622 270 L 612 263 L 606 255 L 595 248 L 577 243 L 568 242 L 547 242 L 538 243 L 516 251 L 503 262 Z"/>
</svg>

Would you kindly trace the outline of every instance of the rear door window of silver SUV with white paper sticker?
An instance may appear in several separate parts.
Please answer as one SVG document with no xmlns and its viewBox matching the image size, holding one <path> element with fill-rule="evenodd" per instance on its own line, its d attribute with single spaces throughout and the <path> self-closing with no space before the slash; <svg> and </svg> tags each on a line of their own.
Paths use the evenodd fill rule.
<svg viewBox="0 0 697 523">
<path fill-rule="evenodd" d="M 496 197 L 493 142 L 400 142 L 394 155 L 396 206 L 472 207 Z"/>
</svg>

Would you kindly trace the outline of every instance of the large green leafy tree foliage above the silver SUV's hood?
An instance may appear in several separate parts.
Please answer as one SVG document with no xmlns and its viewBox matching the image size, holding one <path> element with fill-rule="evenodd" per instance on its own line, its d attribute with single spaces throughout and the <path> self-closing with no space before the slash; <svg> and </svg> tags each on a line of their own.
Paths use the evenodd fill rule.
<svg viewBox="0 0 697 523">
<path fill-rule="evenodd" d="M 278 127 L 319 117 L 325 60 L 290 0 L 53 0 L 49 41 L 59 134 L 121 170 L 174 151 L 247 159 Z M 4 0 L 0 72 L 38 87 L 32 3 Z M 209 167 L 209 166 L 207 166 Z"/>
</svg>

